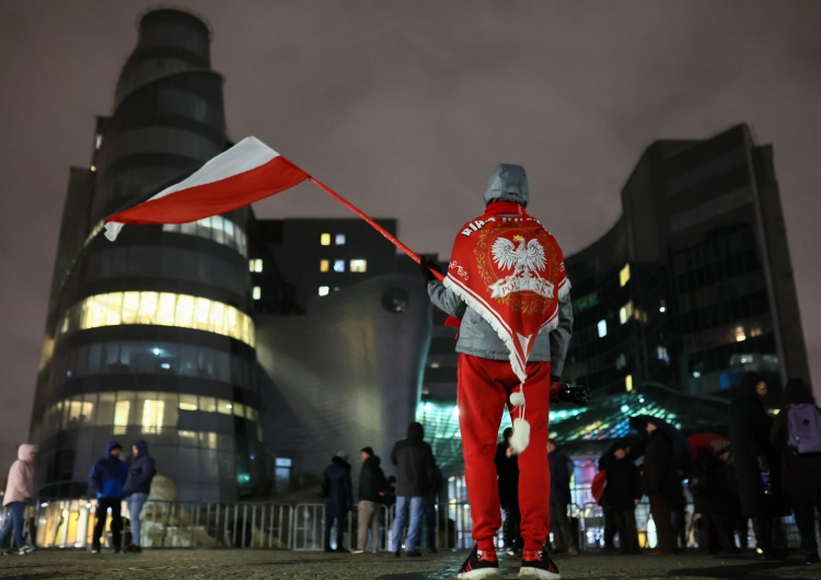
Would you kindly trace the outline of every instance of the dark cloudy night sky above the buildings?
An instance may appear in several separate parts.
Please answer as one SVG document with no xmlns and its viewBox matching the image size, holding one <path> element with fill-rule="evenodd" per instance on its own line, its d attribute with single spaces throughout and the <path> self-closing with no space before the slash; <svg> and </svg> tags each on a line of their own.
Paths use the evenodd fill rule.
<svg viewBox="0 0 821 580">
<path fill-rule="evenodd" d="M 0 1 L 0 473 L 27 434 L 69 166 L 88 166 L 137 19 L 157 2 Z M 748 123 L 775 148 L 821 381 L 821 2 L 189 0 L 229 135 L 254 135 L 417 252 L 448 255 L 498 162 L 567 254 L 618 218 L 656 139 Z M 300 186 L 261 217 L 348 217 Z M 816 392 L 819 393 L 817 385 Z"/>
</svg>

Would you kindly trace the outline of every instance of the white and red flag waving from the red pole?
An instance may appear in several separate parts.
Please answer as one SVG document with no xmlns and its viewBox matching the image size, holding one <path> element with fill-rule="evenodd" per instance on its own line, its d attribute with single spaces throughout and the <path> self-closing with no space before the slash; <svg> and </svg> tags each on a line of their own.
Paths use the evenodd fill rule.
<svg viewBox="0 0 821 580">
<path fill-rule="evenodd" d="M 105 219 L 112 242 L 126 223 L 187 223 L 276 195 L 310 176 L 256 137 L 246 137 L 182 182 Z"/>
</svg>

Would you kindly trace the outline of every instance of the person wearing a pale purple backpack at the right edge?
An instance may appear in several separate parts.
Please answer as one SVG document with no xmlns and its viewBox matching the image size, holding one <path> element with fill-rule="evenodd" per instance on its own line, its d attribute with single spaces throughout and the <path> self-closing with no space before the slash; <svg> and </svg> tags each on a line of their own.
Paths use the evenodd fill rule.
<svg viewBox="0 0 821 580">
<path fill-rule="evenodd" d="M 810 385 L 801 379 L 787 382 L 783 401 L 784 408 L 770 432 L 773 446 L 782 451 L 777 484 L 796 517 L 807 564 L 816 564 L 819 554 L 814 511 L 821 512 L 821 409 Z"/>
</svg>

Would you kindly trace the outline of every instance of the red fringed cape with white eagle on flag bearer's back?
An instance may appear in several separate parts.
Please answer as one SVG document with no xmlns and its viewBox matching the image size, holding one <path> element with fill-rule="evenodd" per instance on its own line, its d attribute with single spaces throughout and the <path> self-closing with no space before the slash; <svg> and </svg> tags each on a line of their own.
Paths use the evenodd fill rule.
<svg viewBox="0 0 821 580">
<path fill-rule="evenodd" d="M 506 201 L 462 228 L 444 286 L 496 330 L 522 383 L 536 335 L 558 325 L 558 299 L 570 290 L 556 240 Z"/>
</svg>

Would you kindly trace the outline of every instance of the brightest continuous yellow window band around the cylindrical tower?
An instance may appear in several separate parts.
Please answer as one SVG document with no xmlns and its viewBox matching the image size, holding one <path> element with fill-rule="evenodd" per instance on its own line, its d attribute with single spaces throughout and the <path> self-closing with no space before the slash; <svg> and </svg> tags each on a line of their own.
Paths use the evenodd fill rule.
<svg viewBox="0 0 821 580">
<path fill-rule="evenodd" d="M 118 324 L 195 328 L 254 346 L 254 321 L 247 314 L 216 300 L 172 292 L 111 292 L 89 297 L 69 309 L 60 333 Z"/>
</svg>

